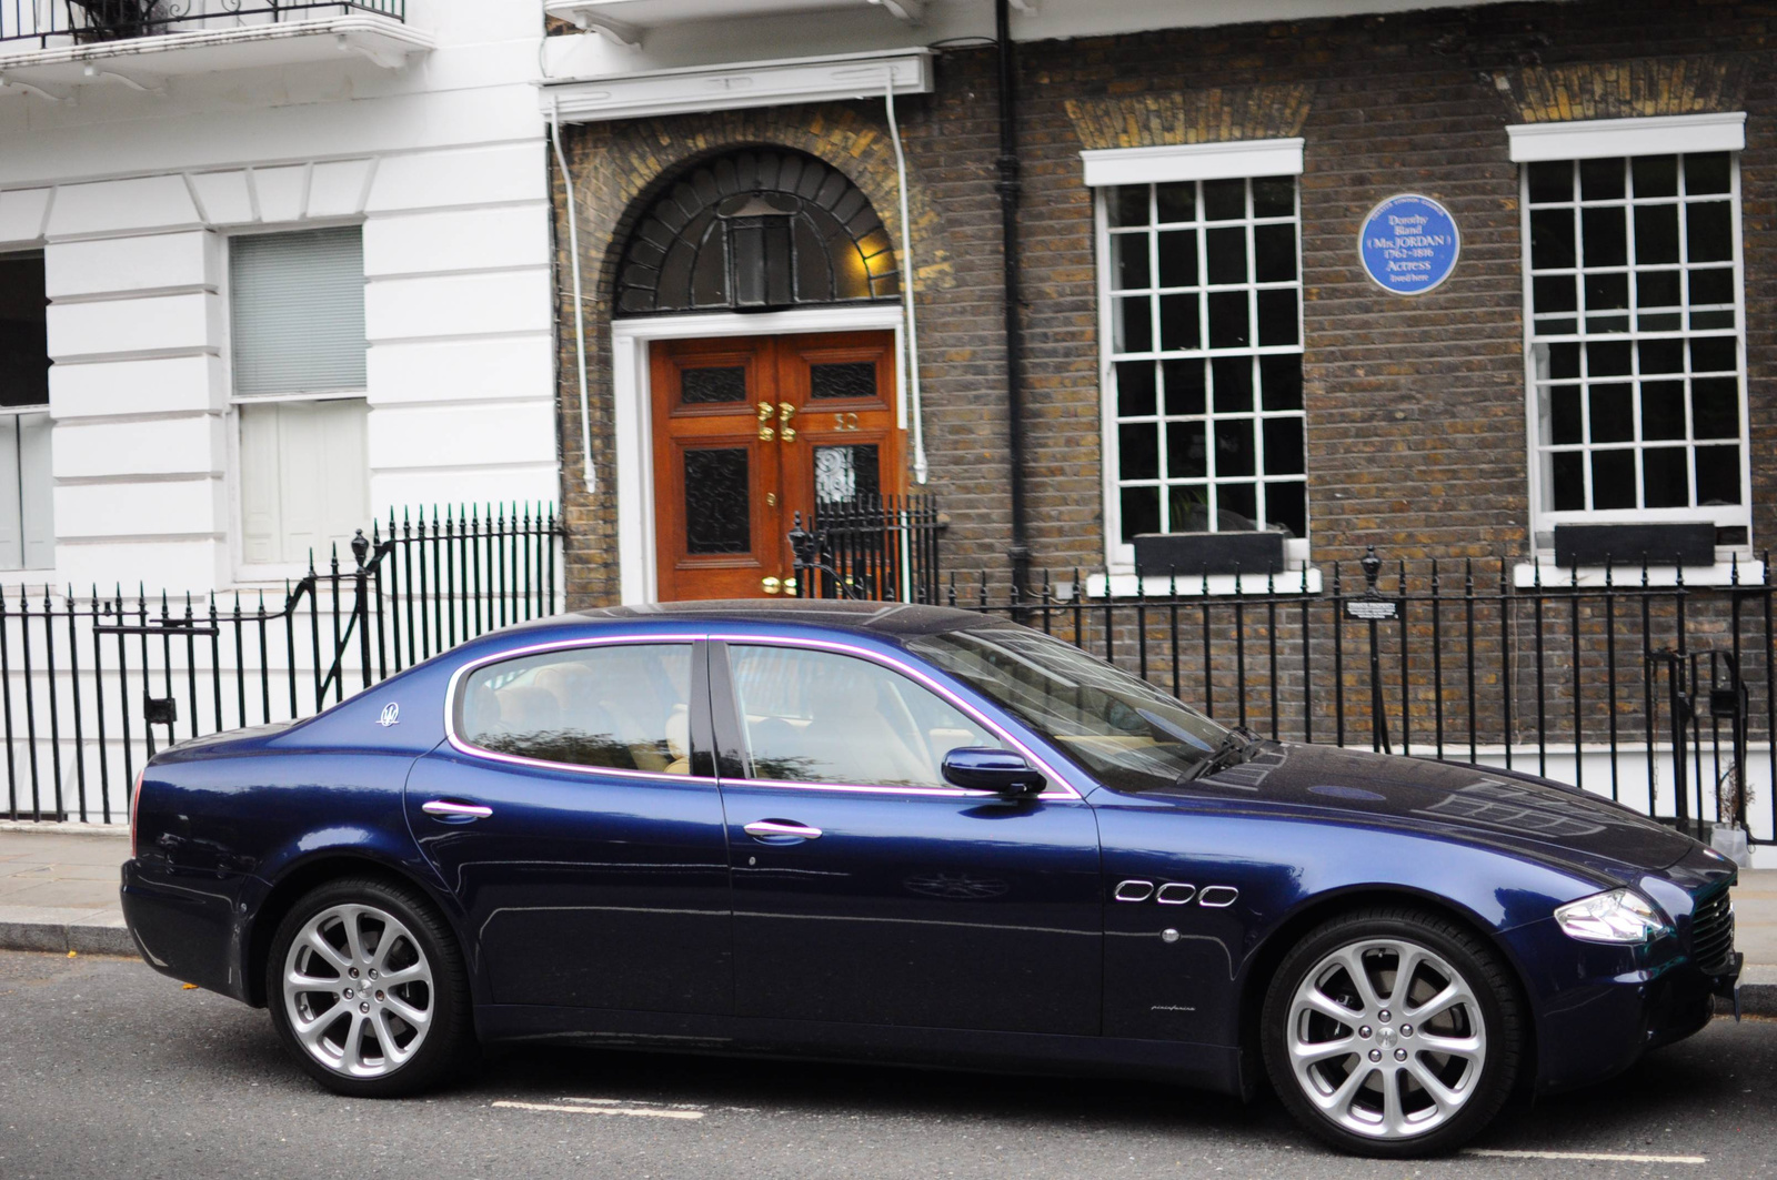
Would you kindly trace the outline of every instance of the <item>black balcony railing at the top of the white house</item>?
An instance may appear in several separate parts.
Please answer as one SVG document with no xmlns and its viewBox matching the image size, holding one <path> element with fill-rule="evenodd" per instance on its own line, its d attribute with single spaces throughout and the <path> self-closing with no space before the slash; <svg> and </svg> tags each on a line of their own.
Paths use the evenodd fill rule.
<svg viewBox="0 0 1777 1180">
<path fill-rule="evenodd" d="M 59 48 L 355 12 L 405 21 L 407 0 L 0 0 L 0 43 Z"/>
</svg>

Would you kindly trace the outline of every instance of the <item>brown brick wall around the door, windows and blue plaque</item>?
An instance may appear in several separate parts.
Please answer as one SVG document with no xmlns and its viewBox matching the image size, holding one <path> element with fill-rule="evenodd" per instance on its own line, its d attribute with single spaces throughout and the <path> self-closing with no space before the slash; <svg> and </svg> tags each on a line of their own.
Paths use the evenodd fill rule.
<svg viewBox="0 0 1777 1180">
<path fill-rule="evenodd" d="M 1507 123 L 1749 112 L 1743 156 L 1754 542 L 1777 537 L 1770 396 L 1777 243 L 1768 155 L 1777 92 L 1757 69 L 1777 5 L 1704 0 L 1518 4 L 1336 21 L 1239 25 L 1018 46 L 1027 476 L 1038 567 L 1102 565 L 1096 283 L 1082 133 L 1120 142 L 1276 135 L 1301 126 L 1310 530 L 1317 562 L 1514 556 L 1528 547 L 1518 169 Z M 1656 62 L 1635 62 L 1649 50 Z M 1749 68 L 1747 62 L 1752 62 Z M 1262 101 L 1255 101 L 1255 96 Z M 1073 110 L 1070 112 L 1070 100 Z M 1203 114 L 1214 110 L 1214 117 Z M 1082 116 L 1082 112 L 1086 112 Z M 949 567 L 1004 570 L 1008 471 L 992 50 L 945 52 L 936 92 L 899 107 L 912 174 L 931 489 L 951 514 Z M 1139 117 L 1137 117 L 1139 116 Z M 624 229 L 657 183 L 723 146 L 785 144 L 842 169 L 899 242 L 880 103 L 835 103 L 570 128 L 594 363 L 595 457 L 610 471 L 610 291 Z M 1091 146 L 1111 146 L 1091 142 Z M 1423 192 L 1452 210 L 1462 259 L 1418 299 L 1358 267 L 1361 217 Z M 560 178 L 558 178 L 560 194 Z M 560 224 L 558 242 L 567 242 Z M 565 268 L 560 286 L 565 290 Z M 562 302 L 567 469 L 578 391 Z M 570 494 L 570 590 L 611 601 L 615 503 Z"/>
</svg>

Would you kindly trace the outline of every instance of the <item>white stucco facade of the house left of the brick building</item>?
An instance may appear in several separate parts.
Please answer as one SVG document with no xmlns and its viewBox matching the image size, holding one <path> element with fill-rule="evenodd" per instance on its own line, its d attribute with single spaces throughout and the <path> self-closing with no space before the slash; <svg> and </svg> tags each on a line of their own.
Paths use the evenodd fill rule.
<svg viewBox="0 0 1777 1180">
<path fill-rule="evenodd" d="M 363 226 L 371 514 L 554 501 L 537 0 L 181 36 L 0 44 L 0 254 L 43 252 L 55 531 L 0 581 L 288 572 L 242 547 L 240 233 Z"/>
</svg>

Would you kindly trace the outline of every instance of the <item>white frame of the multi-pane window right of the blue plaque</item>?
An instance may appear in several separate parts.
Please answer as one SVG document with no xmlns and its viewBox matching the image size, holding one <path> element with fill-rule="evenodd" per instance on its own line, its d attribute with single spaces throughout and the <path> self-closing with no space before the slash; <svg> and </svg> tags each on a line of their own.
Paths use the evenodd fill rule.
<svg viewBox="0 0 1777 1180">
<path fill-rule="evenodd" d="M 1553 563 L 1553 530 L 1557 524 L 1619 524 L 1619 522 L 1711 522 L 1715 528 L 1745 528 L 1747 542 L 1722 546 L 1734 554 L 1752 553 L 1752 434 L 1747 396 L 1747 297 L 1745 297 L 1745 251 L 1741 243 L 1741 183 L 1740 153 L 1745 149 L 1745 112 L 1702 114 L 1702 116 L 1661 116 L 1647 119 L 1587 119 L 1574 123 L 1532 123 L 1505 128 L 1510 142 L 1510 158 L 1518 165 L 1518 213 L 1519 213 L 1519 277 L 1523 300 L 1523 366 L 1525 366 L 1525 448 L 1528 457 L 1526 482 L 1530 492 L 1530 531 L 1532 549 L 1539 565 Z M 1542 453 L 1539 430 L 1539 395 L 1535 347 L 1544 343 L 1535 334 L 1534 279 L 1530 272 L 1530 163 L 1601 160 L 1617 156 L 1663 156 L 1663 155 L 1704 155 L 1729 153 L 1729 203 L 1733 206 L 1733 274 L 1734 274 L 1734 357 L 1740 377 L 1740 503 L 1715 506 L 1685 508 L 1578 508 L 1557 512 L 1548 506 L 1546 498 L 1551 489 L 1542 487 Z M 1576 243 L 1583 251 L 1583 240 Z M 1630 249 L 1633 258 L 1633 229 L 1630 229 Z M 1580 254 L 1583 261 L 1583 254 Z M 1683 263 L 1681 263 L 1683 265 Z M 1630 263 L 1633 274 L 1633 261 Z M 1681 274 L 1685 274 L 1681 270 Z M 1583 311 L 1576 313 L 1583 318 Z M 1582 322 L 1583 327 L 1583 322 Z M 1677 338 L 1690 339 L 1692 329 L 1685 325 Z M 1630 331 L 1612 334 L 1610 339 L 1633 343 L 1646 332 Z M 1598 339 L 1580 334 L 1574 339 Z M 1582 345 L 1583 347 L 1583 345 Z M 1688 371 L 1688 361 L 1686 361 Z M 1688 382 L 1686 382 L 1688 384 Z M 1637 395 L 1638 403 L 1640 395 Z M 1688 398 L 1688 393 L 1686 393 Z M 1695 444 L 1685 441 L 1688 451 Z M 1695 462 L 1695 460 L 1692 460 Z M 1637 466 L 1637 471 L 1640 467 Z M 1640 476 L 1637 476 L 1640 478 Z M 1526 567 L 1528 569 L 1528 567 Z M 1724 567 L 1725 569 L 1725 567 Z M 1741 562 L 1741 570 L 1745 570 Z M 1571 576 L 1571 570 L 1562 578 Z M 1745 576 L 1745 574 L 1743 574 Z"/>
</svg>

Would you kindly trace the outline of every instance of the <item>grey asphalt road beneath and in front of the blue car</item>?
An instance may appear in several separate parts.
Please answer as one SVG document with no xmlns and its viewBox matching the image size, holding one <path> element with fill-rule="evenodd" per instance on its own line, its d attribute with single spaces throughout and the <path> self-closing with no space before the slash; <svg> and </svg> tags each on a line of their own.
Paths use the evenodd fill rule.
<svg viewBox="0 0 1777 1180">
<path fill-rule="evenodd" d="M 526 1048 L 354 1102 L 263 1011 L 140 963 L 0 953 L 0 1176 L 1777 1176 L 1777 1020 L 1717 1020 L 1608 1088 L 1507 1109 L 1482 1152 L 1329 1155 L 1272 1100 L 1167 1086 Z M 1551 1152 L 1651 1159 L 1550 1159 Z M 1706 1162 L 1699 1162 L 1706 1160 Z"/>
</svg>

